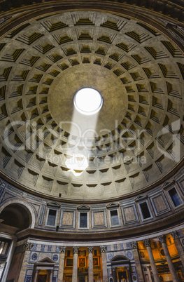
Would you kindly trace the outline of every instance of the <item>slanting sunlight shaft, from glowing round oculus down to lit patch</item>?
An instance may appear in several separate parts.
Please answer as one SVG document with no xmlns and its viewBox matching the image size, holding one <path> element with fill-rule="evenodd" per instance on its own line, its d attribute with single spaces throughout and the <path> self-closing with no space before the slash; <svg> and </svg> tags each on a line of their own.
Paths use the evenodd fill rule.
<svg viewBox="0 0 184 282">
<path fill-rule="evenodd" d="M 81 95 L 75 96 L 74 98 L 76 105 L 73 107 L 68 142 L 68 144 L 73 146 L 66 150 L 67 159 L 65 164 L 67 168 L 69 168 L 69 171 L 75 176 L 80 176 L 89 165 L 88 157 L 92 149 L 92 142 L 91 145 L 89 145 L 87 144 L 87 140 L 94 139 L 99 110 L 103 104 L 99 92 L 95 93 L 94 91 L 96 90 L 92 88 L 87 88 L 87 92 L 85 92 L 85 89 L 86 88 L 82 88 L 81 90 L 83 91 Z M 74 144 L 73 136 L 77 137 Z"/>
</svg>

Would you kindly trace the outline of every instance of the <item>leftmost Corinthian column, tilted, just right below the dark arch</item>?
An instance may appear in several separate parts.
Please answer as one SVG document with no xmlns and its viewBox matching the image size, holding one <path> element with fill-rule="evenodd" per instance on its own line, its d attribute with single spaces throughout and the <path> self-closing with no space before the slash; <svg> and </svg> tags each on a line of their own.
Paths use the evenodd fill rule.
<svg viewBox="0 0 184 282">
<path fill-rule="evenodd" d="M 22 266 L 20 269 L 20 275 L 18 277 L 17 282 L 22 282 L 24 281 L 25 275 L 26 275 L 26 270 L 27 270 L 27 264 L 29 262 L 29 255 L 31 252 L 31 248 L 33 248 L 34 244 L 32 243 L 24 243 L 23 245 L 23 253 L 22 253 Z"/>
</svg>

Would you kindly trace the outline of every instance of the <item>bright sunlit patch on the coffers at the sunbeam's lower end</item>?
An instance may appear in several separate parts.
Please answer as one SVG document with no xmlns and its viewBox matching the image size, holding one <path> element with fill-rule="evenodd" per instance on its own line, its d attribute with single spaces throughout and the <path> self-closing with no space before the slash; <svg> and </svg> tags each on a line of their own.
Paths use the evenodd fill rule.
<svg viewBox="0 0 184 282">
<path fill-rule="evenodd" d="M 81 154 L 73 154 L 65 164 L 75 176 L 81 175 L 88 166 L 86 156 Z"/>
</svg>

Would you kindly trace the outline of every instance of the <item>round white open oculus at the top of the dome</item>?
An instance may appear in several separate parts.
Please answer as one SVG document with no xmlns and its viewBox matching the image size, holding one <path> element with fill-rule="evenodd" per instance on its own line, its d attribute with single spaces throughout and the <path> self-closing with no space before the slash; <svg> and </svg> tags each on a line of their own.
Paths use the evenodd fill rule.
<svg viewBox="0 0 184 282">
<path fill-rule="evenodd" d="M 103 99 L 99 91 L 93 88 L 82 88 L 74 97 L 74 105 L 80 114 L 90 116 L 99 112 Z"/>
</svg>

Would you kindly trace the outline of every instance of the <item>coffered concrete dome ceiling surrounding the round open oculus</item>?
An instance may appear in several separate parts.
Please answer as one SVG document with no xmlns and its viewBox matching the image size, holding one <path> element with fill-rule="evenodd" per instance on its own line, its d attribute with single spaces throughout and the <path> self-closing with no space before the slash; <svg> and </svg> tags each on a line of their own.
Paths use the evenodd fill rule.
<svg viewBox="0 0 184 282">
<path fill-rule="evenodd" d="M 1 172 L 22 189 L 120 199 L 180 166 L 184 58 L 162 30 L 118 13 L 57 11 L 13 27 L 0 47 Z M 74 107 L 82 88 L 101 94 L 97 114 Z"/>
</svg>

